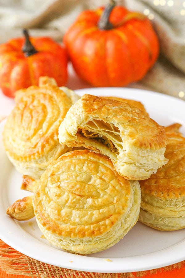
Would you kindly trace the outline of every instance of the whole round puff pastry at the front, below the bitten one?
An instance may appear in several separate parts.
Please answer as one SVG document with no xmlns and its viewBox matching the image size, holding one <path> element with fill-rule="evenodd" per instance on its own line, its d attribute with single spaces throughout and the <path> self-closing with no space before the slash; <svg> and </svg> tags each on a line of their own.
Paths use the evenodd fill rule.
<svg viewBox="0 0 185 278">
<path fill-rule="evenodd" d="M 107 156 L 90 150 L 68 152 L 48 165 L 33 198 L 45 238 L 78 254 L 123 238 L 138 220 L 140 202 L 139 182 L 124 179 Z"/>
</svg>

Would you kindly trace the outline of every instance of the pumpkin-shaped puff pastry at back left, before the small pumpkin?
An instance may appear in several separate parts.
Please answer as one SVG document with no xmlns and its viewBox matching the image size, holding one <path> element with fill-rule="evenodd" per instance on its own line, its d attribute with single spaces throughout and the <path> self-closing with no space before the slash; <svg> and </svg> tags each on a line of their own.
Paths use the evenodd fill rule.
<svg viewBox="0 0 185 278">
<path fill-rule="evenodd" d="M 40 78 L 39 86 L 17 91 L 14 109 L 3 130 L 3 143 L 20 173 L 38 179 L 53 159 L 71 150 L 59 144 L 58 128 L 79 98 L 66 87 L 61 90 L 53 78 L 47 77 Z"/>
</svg>

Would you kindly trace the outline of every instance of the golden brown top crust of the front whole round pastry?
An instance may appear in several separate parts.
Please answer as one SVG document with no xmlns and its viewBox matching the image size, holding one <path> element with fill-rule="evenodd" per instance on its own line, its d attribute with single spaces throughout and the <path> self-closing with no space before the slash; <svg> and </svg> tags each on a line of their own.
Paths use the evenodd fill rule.
<svg viewBox="0 0 185 278">
<path fill-rule="evenodd" d="M 79 173 L 78 171 L 83 172 Z M 97 183 L 97 185 L 93 184 L 93 182 L 91 181 L 91 179 L 93 179 L 91 173 L 93 173 L 93 175 L 96 177 L 94 181 Z M 82 177 L 79 177 L 79 174 L 82 175 Z M 104 178 L 105 181 L 101 180 L 102 178 Z M 115 179 L 115 184 L 111 183 L 111 180 L 113 178 Z M 78 179 L 79 182 L 76 181 Z M 68 204 L 68 207 L 70 207 L 71 210 L 76 209 L 76 211 L 78 211 L 78 213 L 80 214 L 78 216 L 80 225 L 78 225 L 77 223 L 75 225 L 75 219 L 72 220 L 71 213 L 73 211 L 63 211 L 63 214 L 61 214 L 61 205 L 58 206 L 57 203 L 52 212 L 54 216 L 53 218 L 55 218 L 56 221 L 52 221 L 49 215 L 47 215 L 47 205 L 43 209 L 42 203 L 43 198 L 45 197 L 48 198 L 47 204 L 49 204 L 49 197 L 45 195 L 45 191 L 51 190 L 49 187 L 51 186 L 51 183 L 54 183 L 56 186 L 56 193 L 55 191 L 53 193 L 61 193 L 61 198 L 64 198 L 64 200 L 62 200 L 64 204 L 66 203 L 66 200 L 65 196 L 62 196 L 62 194 L 68 192 L 69 196 L 67 198 L 71 198 L 70 195 L 72 195 L 73 198 L 74 196 L 76 196 L 76 200 L 72 200 L 72 202 Z M 122 195 L 121 192 L 121 184 L 123 184 L 122 186 L 124 186 L 124 195 Z M 120 188 L 119 190 L 116 190 L 115 187 Z M 101 191 L 103 194 L 104 190 L 109 190 L 109 193 L 107 194 L 104 192 L 105 205 L 103 203 L 101 204 Z M 116 194 L 119 195 L 115 196 Z M 36 204 L 36 208 L 38 209 L 37 218 L 39 217 L 42 225 L 46 226 L 46 229 L 48 226 L 51 232 L 55 232 L 58 235 L 62 235 L 64 237 L 92 237 L 106 232 L 115 224 L 117 218 L 120 216 L 120 214 L 124 213 L 124 209 L 126 209 L 126 207 L 128 206 L 129 195 L 129 181 L 125 180 L 123 177 L 119 177 L 119 175 L 115 171 L 113 171 L 113 165 L 108 157 L 103 157 L 101 154 L 94 154 L 93 152 L 89 152 L 89 150 L 76 150 L 61 156 L 59 161 L 55 161 L 54 164 L 52 164 L 52 167 L 49 167 L 49 169 L 46 170 L 46 172 L 40 179 L 39 189 L 36 190 L 36 193 L 34 195 L 34 204 Z M 106 205 L 109 203 L 110 205 L 112 205 L 114 201 L 113 196 L 119 199 L 124 198 L 124 200 L 121 200 L 121 203 L 120 200 L 117 200 L 118 202 L 116 202 L 115 199 L 114 214 L 109 213 L 109 211 L 106 212 Z M 57 196 L 55 195 L 53 197 L 57 198 Z M 89 198 L 91 200 L 90 205 L 87 204 L 87 200 Z M 79 204 L 80 201 L 82 202 L 82 204 Z M 98 204 L 96 204 L 96 202 L 98 202 Z M 125 208 L 123 207 L 123 205 L 125 206 Z M 78 206 L 79 208 L 77 208 Z M 90 219 L 89 221 L 87 219 L 87 215 L 85 215 L 84 217 L 84 211 L 81 211 L 81 209 L 84 209 L 84 207 L 86 207 L 85 210 L 87 214 L 89 213 L 94 215 L 95 213 L 97 213 L 96 219 L 93 221 L 94 223 L 90 223 L 92 222 L 92 220 Z M 97 211 L 95 211 L 95 207 Z M 100 216 L 99 214 L 100 209 L 104 210 L 102 212 L 103 216 Z M 41 213 L 41 215 L 39 216 L 38 213 Z M 69 215 L 67 213 L 69 213 Z M 91 229 L 89 229 L 88 222 L 91 225 Z M 57 223 L 64 224 L 65 229 L 63 225 L 57 225 Z"/>
</svg>

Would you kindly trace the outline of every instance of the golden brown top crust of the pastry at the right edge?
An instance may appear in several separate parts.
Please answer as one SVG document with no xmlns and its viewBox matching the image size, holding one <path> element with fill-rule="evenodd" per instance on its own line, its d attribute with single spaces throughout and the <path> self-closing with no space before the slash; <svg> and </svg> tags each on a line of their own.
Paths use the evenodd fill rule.
<svg viewBox="0 0 185 278">
<path fill-rule="evenodd" d="M 172 129 L 173 130 L 173 129 Z M 168 163 L 147 180 L 140 182 L 143 193 L 160 198 L 185 196 L 185 138 L 180 133 L 167 132 L 165 157 Z"/>
</svg>

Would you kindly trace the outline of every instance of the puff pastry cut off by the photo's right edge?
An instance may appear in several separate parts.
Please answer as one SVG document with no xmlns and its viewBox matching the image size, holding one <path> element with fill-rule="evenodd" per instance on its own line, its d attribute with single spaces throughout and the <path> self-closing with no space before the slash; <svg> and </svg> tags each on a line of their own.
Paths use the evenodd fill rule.
<svg viewBox="0 0 185 278">
<path fill-rule="evenodd" d="M 139 220 L 157 230 L 185 228 L 185 138 L 178 132 L 179 126 L 166 128 L 168 163 L 150 179 L 140 181 Z"/>
</svg>

